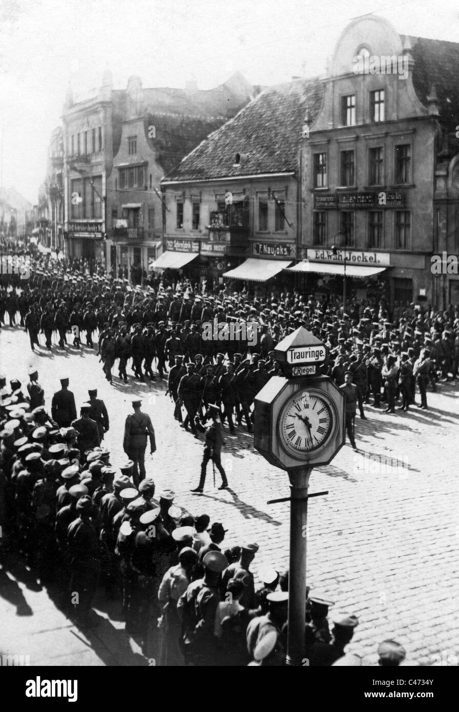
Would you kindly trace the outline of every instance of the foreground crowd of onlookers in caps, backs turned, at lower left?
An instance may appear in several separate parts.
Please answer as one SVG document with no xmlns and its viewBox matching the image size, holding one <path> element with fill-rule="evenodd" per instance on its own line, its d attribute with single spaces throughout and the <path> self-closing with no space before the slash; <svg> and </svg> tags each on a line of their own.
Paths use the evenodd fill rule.
<svg viewBox="0 0 459 712">
<path fill-rule="evenodd" d="M 62 379 L 45 408 L 38 372 L 26 388 L 0 376 L 0 561 L 24 557 L 58 606 L 83 629 L 94 629 L 97 584 L 107 599 L 121 597 L 126 631 L 149 662 L 180 666 L 279 666 L 285 662 L 288 572 L 250 566 L 258 544 L 226 549 L 226 529 L 206 513 L 177 506 L 174 492 L 155 493 L 154 481 L 134 476 L 134 463 L 110 464 L 100 446 L 109 428 L 97 391 L 76 418 L 75 399 Z M 154 431 L 139 402 L 128 417 L 125 449 L 154 449 Z M 148 417 L 147 417 L 148 418 Z M 132 435 L 129 420 L 144 433 Z M 131 435 L 129 435 L 131 432 Z M 132 442 L 131 438 L 144 438 Z M 137 484 L 137 486 L 135 486 Z M 156 495 L 156 497 L 155 497 Z M 362 665 L 349 654 L 359 620 L 337 612 L 320 590 L 307 590 L 304 665 Z M 403 663 L 403 646 L 387 639 L 379 664 Z"/>
</svg>

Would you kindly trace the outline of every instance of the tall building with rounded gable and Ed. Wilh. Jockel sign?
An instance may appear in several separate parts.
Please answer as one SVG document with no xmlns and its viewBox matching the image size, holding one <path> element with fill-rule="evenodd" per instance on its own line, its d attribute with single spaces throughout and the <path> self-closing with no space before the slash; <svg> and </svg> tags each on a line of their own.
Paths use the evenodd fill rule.
<svg viewBox="0 0 459 712">
<path fill-rule="evenodd" d="M 459 303 L 457 277 L 431 274 L 433 253 L 458 250 L 458 70 L 459 45 L 376 16 L 344 29 L 302 147 L 309 262 L 293 269 L 311 290 L 340 290 L 346 270 L 358 298 Z"/>
</svg>

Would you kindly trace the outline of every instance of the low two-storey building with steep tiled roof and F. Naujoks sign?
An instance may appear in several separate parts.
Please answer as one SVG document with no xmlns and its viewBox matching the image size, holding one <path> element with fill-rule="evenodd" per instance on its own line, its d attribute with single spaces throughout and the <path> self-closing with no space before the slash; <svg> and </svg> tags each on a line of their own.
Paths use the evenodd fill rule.
<svg viewBox="0 0 459 712">
<path fill-rule="evenodd" d="M 302 127 L 321 103 L 319 80 L 267 88 L 176 165 L 162 180 L 165 251 L 155 268 L 263 282 L 295 261 Z"/>
</svg>

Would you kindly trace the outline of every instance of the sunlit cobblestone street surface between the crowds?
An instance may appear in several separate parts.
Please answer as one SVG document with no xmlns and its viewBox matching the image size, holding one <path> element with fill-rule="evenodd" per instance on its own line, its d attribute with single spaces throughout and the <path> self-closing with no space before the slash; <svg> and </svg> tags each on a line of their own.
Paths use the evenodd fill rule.
<svg viewBox="0 0 459 712">
<path fill-rule="evenodd" d="M 222 456 L 230 488 L 213 487 L 209 465 L 204 494 L 192 494 L 203 437 L 195 439 L 174 420 L 166 382 L 141 383 L 128 370 L 130 382 L 124 384 L 115 366 L 110 386 L 95 354 L 96 349 L 87 347 L 33 353 L 22 329 L 1 330 L 1 371 L 25 386 L 27 369 L 35 365 L 48 412 L 59 378 L 70 378 L 78 414 L 88 388 L 97 387 L 110 416 L 105 445 L 115 466 L 125 459 L 122 434 L 132 397 L 142 397 L 142 410 L 156 431 L 157 452 L 146 457 L 146 466 L 157 491 L 172 488 L 176 504 L 195 515 L 209 513 L 211 522 L 221 521 L 228 529 L 223 548 L 256 541 L 255 575 L 265 565 L 285 569 L 289 505 L 267 501 L 289 496 L 287 474 L 268 465 L 253 449 L 253 436 L 239 427 L 235 436 L 226 431 Z M 323 590 L 337 608 L 357 614 L 359 626 L 349 651 L 364 655 L 366 665 L 376 663 L 376 647 L 386 638 L 401 642 L 407 659 L 421 664 L 435 664 L 444 654 L 459 655 L 455 386 L 439 384 L 437 393 L 429 391 L 428 406 L 393 415 L 366 407 L 368 419 L 356 420 L 359 453 L 344 446 L 331 465 L 313 471 L 310 481 L 311 493 L 329 493 L 310 501 L 307 583 Z M 218 473 L 216 478 L 218 486 Z M 85 637 L 18 562 L 8 574 L 0 572 L 0 652 L 29 654 L 31 665 L 147 665 L 124 633 L 120 602 L 106 604 L 97 597 L 95 608 L 105 620 Z"/>
</svg>

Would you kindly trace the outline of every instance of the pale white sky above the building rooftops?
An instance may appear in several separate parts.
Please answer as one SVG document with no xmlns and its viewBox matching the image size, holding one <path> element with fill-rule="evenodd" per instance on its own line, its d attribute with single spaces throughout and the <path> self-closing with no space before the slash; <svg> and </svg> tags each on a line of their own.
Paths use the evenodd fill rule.
<svg viewBox="0 0 459 712">
<path fill-rule="evenodd" d="M 236 69 L 253 84 L 322 74 L 347 22 L 369 12 L 459 41 L 459 0 L 0 0 L 3 185 L 36 203 L 70 79 L 85 98 L 105 66 L 116 89 L 132 74 L 202 89 Z"/>
</svg>

